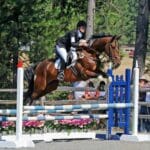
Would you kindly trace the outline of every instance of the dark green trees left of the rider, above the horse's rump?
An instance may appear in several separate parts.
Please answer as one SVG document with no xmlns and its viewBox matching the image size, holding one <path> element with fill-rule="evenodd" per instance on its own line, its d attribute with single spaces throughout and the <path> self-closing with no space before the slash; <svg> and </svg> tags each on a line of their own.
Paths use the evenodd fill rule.
<svg viewBox="0 0 150 150">
<path fill-rule="evenodd" d="M 80 0 L 1 0 L 1 81 L 12 85 L 12 72 L 16 74 L 18 51 L 22 47 L 30 47 L 32 63 L 53 57 L 56 39 L 85 18 L 86 4 Z"/>
</svg>

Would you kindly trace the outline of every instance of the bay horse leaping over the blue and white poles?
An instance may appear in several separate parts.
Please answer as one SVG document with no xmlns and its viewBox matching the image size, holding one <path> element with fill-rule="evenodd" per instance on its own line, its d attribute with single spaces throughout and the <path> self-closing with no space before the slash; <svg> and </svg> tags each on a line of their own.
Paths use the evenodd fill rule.
<svg viewBox="0 0 150 150">
<path fill-rule="evenodd" d="M 93 40 L 91 46 L 79 47 L 78 59 L 73 67 L 64 70 L 64 82 L 88 80 L 89 78 L 106 75 L 99 68 L 99 56 L 105 53 L 115 66 L 120 65 L 120 53 L 118 36 L 101 36 Z M 46 59 L 34 67 L 30 67 L 31 76 L 28 79 L 29 88 L 25 101 L 31 105 L 33 100 L 38 99 L 57 89 L 58 70 L 55 68 L 55 59 Z M 26 74 L 26 72 L 25 72 Z"/>
</svg>

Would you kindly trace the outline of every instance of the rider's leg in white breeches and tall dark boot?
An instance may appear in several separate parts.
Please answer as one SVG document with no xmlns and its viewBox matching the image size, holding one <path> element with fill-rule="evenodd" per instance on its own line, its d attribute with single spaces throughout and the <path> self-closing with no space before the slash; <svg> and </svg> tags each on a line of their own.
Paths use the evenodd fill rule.
<svg viewBox="0 0 150 150">
<path fill-rule="evenodd" d="M 67 50 L 63 47 L 56 46 L 56 53 L 62 60 L 60 69 L 58 71 L 57 79 L 62 81 L 62 80 L 64 80 L 64 69 L 65 69 L 66 63 L 67 63 Z"/>
</svg>

